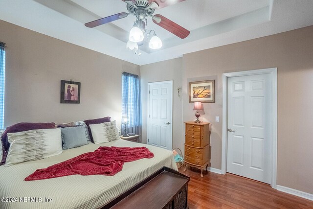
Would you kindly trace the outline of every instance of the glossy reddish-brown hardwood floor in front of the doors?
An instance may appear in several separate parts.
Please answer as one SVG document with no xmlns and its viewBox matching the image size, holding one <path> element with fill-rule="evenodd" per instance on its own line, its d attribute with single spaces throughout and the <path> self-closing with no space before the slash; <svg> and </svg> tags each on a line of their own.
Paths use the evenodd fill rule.
<svg viewBox="0 0 313 209">
<path fill-rule="evenodd" d="M 190 176 L 188 206 L 190 209 L 313 209 L 313 201 L 293 196 L 268 184 L 227 173 L 203 172 L 188 166 Z"/>
</svg>

